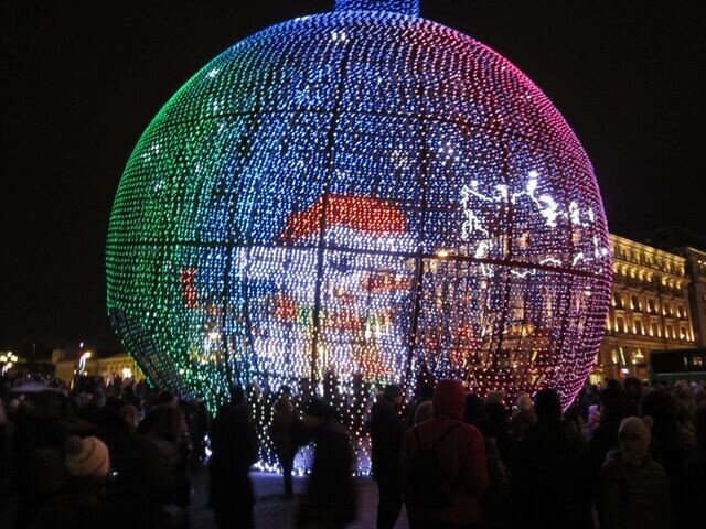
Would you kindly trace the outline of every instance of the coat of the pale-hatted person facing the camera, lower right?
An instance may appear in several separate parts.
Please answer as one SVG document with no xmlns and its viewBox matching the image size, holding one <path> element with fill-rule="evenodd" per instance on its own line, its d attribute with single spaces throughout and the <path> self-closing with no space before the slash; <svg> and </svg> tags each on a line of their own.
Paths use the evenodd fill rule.
<svg viewBox="0 0 706 529">
<path fill-rule="evenodd" d="M 598 501 L 601 529 L 671 529 L 670 482 L 664 468 L 646 457 L 640 466 L 620 456 L 606 462 Z"/>
</svg>

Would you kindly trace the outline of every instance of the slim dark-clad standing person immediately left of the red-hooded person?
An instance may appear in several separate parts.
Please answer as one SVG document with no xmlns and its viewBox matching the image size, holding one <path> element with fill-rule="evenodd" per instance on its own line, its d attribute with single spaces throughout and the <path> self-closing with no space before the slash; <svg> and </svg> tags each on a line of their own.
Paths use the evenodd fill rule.
<svg viewBox="0 0 706 529">
<path fill-rule="evenodd" d="M 391 384 L 371 410 L 373 479 L 377 482 L 377 529 L 392 529 L 402 510 L 399 455 L 405 433 L 399 409 L 402 388 Z"/>
</svg>

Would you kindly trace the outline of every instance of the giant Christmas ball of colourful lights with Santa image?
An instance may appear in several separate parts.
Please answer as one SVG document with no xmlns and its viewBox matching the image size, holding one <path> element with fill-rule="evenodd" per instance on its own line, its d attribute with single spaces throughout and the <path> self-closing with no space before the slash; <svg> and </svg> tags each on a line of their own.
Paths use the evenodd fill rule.
<svg viewBox="0 0 706 529">
<path fill-rule="evenodd" d="M 418 17 L 340 1 L 189 80 L 137 144 L 107 245 L 108 311 L 157 384 L 284 385 L 360 443 L 374 386 L 458 377 L 568 404 L 603 333 L 608 231 L 590 162 L 509 61 Z"/>
</svg>

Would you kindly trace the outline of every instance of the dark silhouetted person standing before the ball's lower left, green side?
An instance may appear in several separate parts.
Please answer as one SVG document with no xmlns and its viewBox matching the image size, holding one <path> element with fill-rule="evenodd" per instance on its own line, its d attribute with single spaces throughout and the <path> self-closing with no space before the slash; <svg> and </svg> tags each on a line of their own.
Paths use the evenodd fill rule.
<svg viewBox="0 0 706 529">
<path fill-rule="evenodd" d="M 255 431 L 239 386 L 211 424 L 211 506 L 220 529 L 254 527 L 249 469 L 257 460 Z"/>
</svg>

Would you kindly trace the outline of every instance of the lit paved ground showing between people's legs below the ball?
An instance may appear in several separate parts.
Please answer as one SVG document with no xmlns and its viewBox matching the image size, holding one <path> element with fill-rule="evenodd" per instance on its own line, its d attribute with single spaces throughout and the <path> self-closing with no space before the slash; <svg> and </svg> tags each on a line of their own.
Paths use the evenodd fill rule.
<svg viewBox="0 0 706 529">
<path fill-rule="evenodd" d="M 298 500 L 306 488 L 306 477 L 295 477 L 295 498 L 287 500 L 282 497 L 282 478 L 276 474 L 254 472 L 252 474 L 257 496 L 255 505 L 255 520 L 258 529 L 287 529 L 293 528 Z M 191 507 L 191 520 L 193 529 L 214 529 L 213 514 L 207 508 L 206 489 L 203 476 L 194 476 L 194 496 Z M 356 478 L 359 517 L 349 527 L 354 529 L 367 529 L 375 527 L 377 512 L 377 486 L 370 478 Z M 407 529 L 407 517 L 403 508 L 402 516 L 395 529 Z"/>
</svg>

